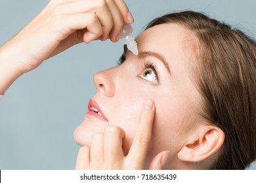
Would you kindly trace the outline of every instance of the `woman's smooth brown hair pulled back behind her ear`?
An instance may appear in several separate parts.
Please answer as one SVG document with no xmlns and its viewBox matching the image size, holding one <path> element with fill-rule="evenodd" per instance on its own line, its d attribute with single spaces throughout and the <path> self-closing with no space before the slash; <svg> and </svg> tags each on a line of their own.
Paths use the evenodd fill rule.
<svg viewBox="0 0 256 183">
<path fill-rule="evenodd" d="M 199 12 L 156 18 L 179 24 L 196 36 L 198 52 L 193 80 L 202 95 L 197 112 L 224 134 L 221 156 L 212 169 L 245 169 L 256 158 L 256 43 L 238 29 Z"/>
</svg>

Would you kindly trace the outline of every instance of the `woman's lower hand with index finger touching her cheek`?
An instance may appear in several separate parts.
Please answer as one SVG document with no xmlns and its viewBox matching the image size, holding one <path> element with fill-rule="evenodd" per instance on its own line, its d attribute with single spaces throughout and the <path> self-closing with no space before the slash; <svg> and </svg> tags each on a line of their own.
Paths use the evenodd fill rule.
<svg viewBox="0 0 256 183">
<path fill-rule="evenodd" d="M 75 169 L 143 169 L 151 139 L 154 112 L 153 101 L 146 101 L 140 112 L 139 127 L 129 152 L 125 131 L 110 125 L 104 133 L 93 135 L 91 148 L 80 148 Z M 168 151 L 160 152 L 152 159 L 149 169 L 163 169 L 168 156 Z"/>
</svg>

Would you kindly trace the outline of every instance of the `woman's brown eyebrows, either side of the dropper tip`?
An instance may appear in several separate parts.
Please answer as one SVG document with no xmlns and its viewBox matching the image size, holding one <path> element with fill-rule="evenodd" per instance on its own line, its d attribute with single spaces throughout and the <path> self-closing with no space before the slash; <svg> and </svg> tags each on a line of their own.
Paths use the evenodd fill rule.
<svg viewBox="0 0 256 183">
<path fill-rule="evenodd" d="M 123 46 L 123 54 L 125 56 L 127 55 L 127 51 L 128 51 L 127 46 L 124 45 Z M 169 63 L 165 60 L 165 58 L 161 54 L 156 53 L 156 52 L 144 51 L 144 52 L 139 52 L 139 55 L 138 55 L 138 57 L 141 59 L 150 57 L 150 56 L 159 59 L 163 63 L 165 68 L 167 69 L 168 73 L 171 75 Z"/>
</svg>

